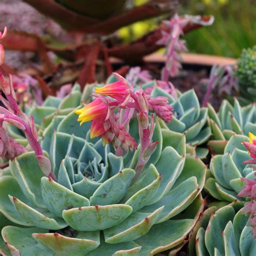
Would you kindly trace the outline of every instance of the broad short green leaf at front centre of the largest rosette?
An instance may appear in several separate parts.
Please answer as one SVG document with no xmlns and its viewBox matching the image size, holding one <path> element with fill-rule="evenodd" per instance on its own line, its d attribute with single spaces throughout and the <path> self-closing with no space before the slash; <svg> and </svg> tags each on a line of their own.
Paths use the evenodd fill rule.
<svg viewBox="0 0 256 256">
<path fill-rule="evenodd" d="M 131 213 L 129 205 L 96 205 L 64 210 L 63 218 L 76 230 L 97 231 L 122 223 Z"/>
</svg>

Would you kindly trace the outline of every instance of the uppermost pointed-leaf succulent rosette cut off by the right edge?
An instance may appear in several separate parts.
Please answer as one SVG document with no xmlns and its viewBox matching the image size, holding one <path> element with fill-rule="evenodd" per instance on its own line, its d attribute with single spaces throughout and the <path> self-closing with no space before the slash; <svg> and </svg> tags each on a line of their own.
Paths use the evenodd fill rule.
<svg viewBox="0 0 256 256">
<path fill-rule="evenodd" d="M 223 100 L 218 114 L 211 104 L 208 104 L 208 116 L 212 130 L 208 146 L 215 154 L 224 152 L 227 140 L 234 133 L 242 135 L 247 135 L 249 132 L 256 133 L 255 103 L 241 107 L 237 99 L 234 99 L 233 106 L 227 100 Z"/>
</svg>

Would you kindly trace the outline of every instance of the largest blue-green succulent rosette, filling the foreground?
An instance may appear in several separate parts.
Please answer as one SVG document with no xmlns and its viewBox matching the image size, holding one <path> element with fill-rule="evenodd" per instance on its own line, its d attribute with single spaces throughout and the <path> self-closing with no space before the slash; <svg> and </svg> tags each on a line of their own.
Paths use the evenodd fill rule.
<svg viewBox="0 0 256 256">
<path fill-rule="evenodd" d="M 37 150 L 17 154 L 1 171 L 0 252 L 8 255 L 9 249 L 13 255 L 28 256 L 153 255 L 183 246 L 204 208 L 200 192 L 206 166 L 197 157 L 186 155 L 184 134 L 161 129 L 155 117 L 155 121 L 151 118 L 151 124 L 156 124 L 152 140 L 158 144 L 152 144 L 156 145 L 152 156 L 134 180 L 141 152 L 149 152 L 138 146 L 134 152 L 117 156 L 110 144 L 102 145 L 104 137 L 91 138 L 93 122 L 80 126 L 73 112 L 86 95 L 78 89 L 74 87 L 62 103 L 50 97 L 42 107 L 31 108 L 35 122 L 22 114 L 26 125 L 32 127 L 32 135 L 25 127 L 26 138 L 22 140 L 29 143 L 23 144 L 30 149 L 32 136 L 36 138 L 32 149 Z M 6 87 L 4 92 L 11 104 L 6 104 L 9 110 L 1 108 L 0 117 L 11 123 L 21 112 L 13 105 L 13 92 Z M 148 101 L 156 113 L 165 113 L 156 99 Z M 131 120 L 129 130 L 136 142 L 140 137 L 138 122 L 149 125 L 140 115 L 138 120 Z M 17 122 L 11 124 L 23 129 Z M 118 147 L 117 139 L 113 144 Z"/>
</svg>

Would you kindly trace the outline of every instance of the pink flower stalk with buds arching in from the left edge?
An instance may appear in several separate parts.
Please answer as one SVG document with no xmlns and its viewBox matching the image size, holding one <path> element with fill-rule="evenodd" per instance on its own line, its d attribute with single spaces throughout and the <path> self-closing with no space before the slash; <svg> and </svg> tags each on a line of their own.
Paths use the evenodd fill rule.
<svg viewBox="0 0 256 256">
<path fill-rule="evenodd" d="M 3 36 L 6 35 L 6 31 L 7 30 L 5 29 Z M 3 36 L 1 37 L 0 35 L 0 38 L 3 38 Z M 0 48 L 0 54 L 2 54 L 1 51 L 2 50 Z M 3 61 L 4 59 L 1 59 L 1 62 Z M 56 179 L 51 171 L 50 160 L 43 154 L 33 117 L 31 116 L 29 118 L 19 108 L 16 102 L 16 94 L 12 83 L 12 77 L 10 75 L 9 81 L 6 80 L 1 70 L 0 89 L 2 90 L 2 93 L 4 93 L 4 95 L 2 95 L 2 93 L 0 94 L 0 102 L 5 106 L 0 106 L 0 156 L 3 159 L 7 158 L 12 160 L 27 150 L 24 146 L 15 142 L 14 139 L 8 136 L 8 132 L 4 128 L 4 122 L 6 122 L 10 125 L 16 126 L 24 132 L 28 139 L 30 148 L 35 151 L 38 164 L 41 167 L 42 172 L 45 176 L 50 176 L 51 178 Z"/>
</svg>

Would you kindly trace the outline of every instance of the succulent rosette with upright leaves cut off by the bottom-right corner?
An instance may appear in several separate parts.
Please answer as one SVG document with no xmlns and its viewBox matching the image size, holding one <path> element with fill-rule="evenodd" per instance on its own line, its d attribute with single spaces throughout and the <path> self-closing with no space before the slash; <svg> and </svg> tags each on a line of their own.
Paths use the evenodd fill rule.
<svg viewBox="0 0 256 256">
<path fill-rule="evenodd" d="M 190 255 L 254 255 L 256 240 L 240 207 L 233 203 L 207 208 L 190 238 Z"/>
</svg>

